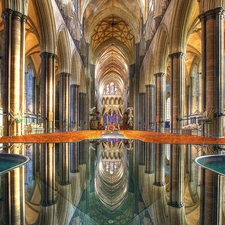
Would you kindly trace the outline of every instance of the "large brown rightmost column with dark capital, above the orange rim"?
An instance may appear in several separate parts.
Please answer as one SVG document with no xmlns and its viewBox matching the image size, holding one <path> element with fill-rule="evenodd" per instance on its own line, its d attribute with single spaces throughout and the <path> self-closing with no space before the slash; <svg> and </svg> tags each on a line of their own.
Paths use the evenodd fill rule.
<svg viewBox="0 0 225 225">
<path fill-rule="evenodd" d="M 218 117 L 212 121 L 210 126 L 211 134 L 223 136 L 223 114 L 224 110 L 224 9 L 217 8 L 209 10 L 200 16 L 202 22 L 202 63 L 204 74 L 203 95 L 205 96 L 206 110 L 215 109 Z"/>
</svg>

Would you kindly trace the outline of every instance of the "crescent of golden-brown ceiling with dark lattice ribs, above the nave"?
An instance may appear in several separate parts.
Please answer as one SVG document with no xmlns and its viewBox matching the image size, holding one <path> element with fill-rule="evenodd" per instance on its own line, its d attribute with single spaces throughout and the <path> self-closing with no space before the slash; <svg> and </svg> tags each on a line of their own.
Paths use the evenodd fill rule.
<svg viewBox="0 0 225 225">
<path fill-rule="evenodd" d="M 92 35 L 93 50 L 108 39 L 117 39 L 129 49 L 134 47 L 134 36 L 131 28 L 119 17 L 107 17 L 95 27 Z"/>
</svg>

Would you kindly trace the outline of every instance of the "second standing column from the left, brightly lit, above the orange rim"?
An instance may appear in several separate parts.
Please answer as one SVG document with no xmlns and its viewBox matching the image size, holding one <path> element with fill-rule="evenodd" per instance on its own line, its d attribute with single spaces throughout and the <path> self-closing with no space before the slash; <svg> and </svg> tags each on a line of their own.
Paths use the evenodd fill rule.
<svg viewBox="0 0 225 225">
<path fill-rule="evenodd" d="M 41 53 L 41 116 L 47 132 L 54 132 L 55 111 L 55 55 L 49 52 Z"/>
</svg>

